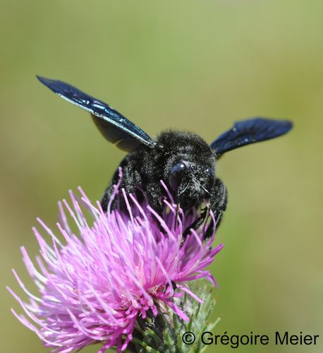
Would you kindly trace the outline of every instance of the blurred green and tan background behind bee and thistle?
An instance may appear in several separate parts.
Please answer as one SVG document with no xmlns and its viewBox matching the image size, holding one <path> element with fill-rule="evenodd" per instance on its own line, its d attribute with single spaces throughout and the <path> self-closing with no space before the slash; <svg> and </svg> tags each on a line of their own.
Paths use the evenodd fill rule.
<svg viewBox="0 0 323 353">
<path fill-rule="evenodd" d="M 12 267 L 30 283 L 19 246 L 37 253 L 35 217 L 54 227 L 56 201 L 78 185 L 99 199 L 124 155 L 35 74 L 109 102 L 151 136 L 173 127 L 211 142 L 246 117 L 292 119 L 288 136 L 219 162 L 229 205 L 212 265 L 217 330 L 322 335 L 322 15 L 319 0 L 1 1 L 1 352 L 44 351 L 5 289 L 22 293 Z"/>
</svg>

